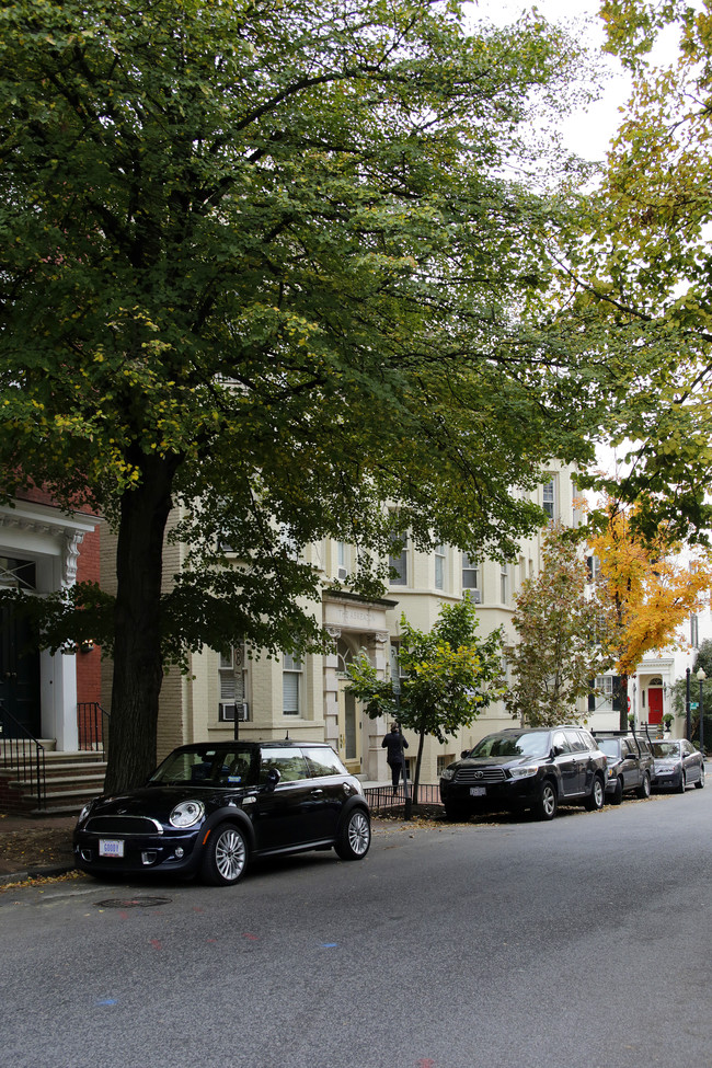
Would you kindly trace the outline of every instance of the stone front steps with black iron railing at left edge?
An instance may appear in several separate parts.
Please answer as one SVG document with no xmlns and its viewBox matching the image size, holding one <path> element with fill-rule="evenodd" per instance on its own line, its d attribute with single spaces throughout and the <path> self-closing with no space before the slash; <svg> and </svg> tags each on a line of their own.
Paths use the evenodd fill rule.
<svg viewBox="0 0 712 1068">
<path fill-rule="evenodd" d="M 0 744 L 0 812 L 25 816 L 71 816 L 104 789 L 106 762 L 100 751 L 57 753 L 54 742 L 45 747 L 45 804 L 37 803 L 36 776 L 7 767 Z"/>
</svg>

